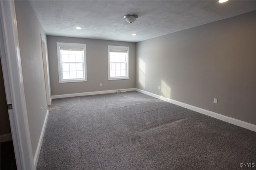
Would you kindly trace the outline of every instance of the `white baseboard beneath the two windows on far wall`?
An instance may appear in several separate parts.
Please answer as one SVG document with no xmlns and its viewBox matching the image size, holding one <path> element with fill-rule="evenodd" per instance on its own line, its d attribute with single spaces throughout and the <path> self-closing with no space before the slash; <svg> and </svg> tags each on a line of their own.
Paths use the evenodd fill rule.
<svg viewBox="0 0 256 170">
<path fill-rule="evenodd" d="M 136 88 L 127 88 L 125 89 L 126 92 L 135 91 Z M 104 90 L 104 91 L 97 91 L 97 92 L 84 92 L 84 93 L 73 93 L 73 94 L 61 94 L 61 95 L 54 95 L 52 99 L 59 99 L 59 98 L 70 98 L 70 97 L 78 97 L 78 96 L 89 96 L 89 95 L 96 95 L 96 94 L 108 94 L 108 93 L 116 93 L 117 90 Z"/>
</svg>

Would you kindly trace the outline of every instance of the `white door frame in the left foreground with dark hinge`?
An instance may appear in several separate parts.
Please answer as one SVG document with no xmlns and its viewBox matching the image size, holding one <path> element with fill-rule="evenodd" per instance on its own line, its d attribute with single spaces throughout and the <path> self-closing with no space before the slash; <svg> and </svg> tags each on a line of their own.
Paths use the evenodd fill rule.
<svg viewBox="0 0 256 170">
<path fill-rule="evenodd" d="M 4 42 L 1 48 L 4 45 L 5 51 L 5 56 L 2 55 L 1 61 L 7 104 L 12 104 L 12 109 L 8 112 L 16 164 L 18 170 L 34 170 L 14 1 L 1 0 L 0 3 Z"/>
</svg>

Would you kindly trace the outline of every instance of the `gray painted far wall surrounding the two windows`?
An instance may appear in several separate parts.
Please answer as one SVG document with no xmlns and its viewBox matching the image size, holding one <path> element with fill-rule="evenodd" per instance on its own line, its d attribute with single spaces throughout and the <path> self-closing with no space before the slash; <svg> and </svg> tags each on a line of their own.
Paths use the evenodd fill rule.
<svg viewBox="0 0 256 170">
<path fill-rule="evenodd" d="M 135 88 L 136 43 L 56 36 L 47 42 L 52 95 Z M 86 44 L 87 82 L 59 83 L 57 42 Z M 108 80 L 108 45 L 130 47 L 130 79 Z"/>
</svg>

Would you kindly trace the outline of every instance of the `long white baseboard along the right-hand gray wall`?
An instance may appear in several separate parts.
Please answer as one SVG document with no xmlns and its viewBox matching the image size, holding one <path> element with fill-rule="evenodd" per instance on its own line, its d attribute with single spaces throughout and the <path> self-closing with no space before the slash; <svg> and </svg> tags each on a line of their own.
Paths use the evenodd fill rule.
<svg viewBox="0 0 256 170">
<path fill-rule="evenodd" d="M 215 113 L 213 111 L 209 111 L 209 110 L 206 110 L 206 109 L 202 109 L 200 107 L 196 107 L 196 106 L 192 106 L 192 105 L 189 105 L 189 104 L 185 104 L 185 103 L 182 103 L 182 102 L 178 102 L 176 100 L 172 100 L 172 99 L 169 99 L 169 98 L 166 98 L 166 97 L 163 97 L 163 96 L 159 96 L 157 94 L 153 94 L 153 93 L 150 93 L 150 92 L 147 92 L 147 91 L 144 91 L 144 90 L 140 90 L 138 88 L 136 88 L 136 91 L 137 92 L 141 92 L 143 94 L 146 94 L 148 96 L 152 96 L 154 98 L 158 98 L 160 100 L 164 100 L 166 102 L 169 102 L 169 103 L 172 103 L 172 104 L 175 104 L 175 105 L 178 105 L 178 106 L 181 106 L 181 107 L 185 107 L 187 109 L 190 109 L 190 110 L 193 110 L 193 111 L 196 111 L 198 113 L 202 113 L 204 115 L 208 115 L 208 116 L 211 116 L 211 117 L 214 117 L 216 119 L 220 119 L 222 121 L 226 121 L 228 123 L 231 123 L 233 125 L 237 125 L 237 126 L 240 126 L 240 127 L 243 127 L 245 129 L 249 129 L 251 131 L 254 131 L 256 132 L 256 125 L 254 124 L 251 124 L 251 123 L 247 123 L 245 121 L 241 121 L 241 120 L 238 120 L 238 119 L 234 119 L 232 117 L 228 117 L 228 116 L 224 116 L 224 115 L 221 115 L 219 113 Z"/>
</svg>

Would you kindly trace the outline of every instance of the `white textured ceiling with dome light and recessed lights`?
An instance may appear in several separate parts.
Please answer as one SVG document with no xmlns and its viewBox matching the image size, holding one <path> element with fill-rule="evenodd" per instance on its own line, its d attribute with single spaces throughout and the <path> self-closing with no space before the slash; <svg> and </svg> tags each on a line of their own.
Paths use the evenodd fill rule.
<svg viewBox="0 0 256 170">
<path fill-rule="evenodd" d="M 256 10 L 256 1 L 30 1 L 47 35 L 139 42 Z M 128 23 L 123 16 L 136 14 Z M 82 27 L 81 30 L 75 27 Z M 132 33 L 137 33 L 132 36 Z"/>
</svg>

